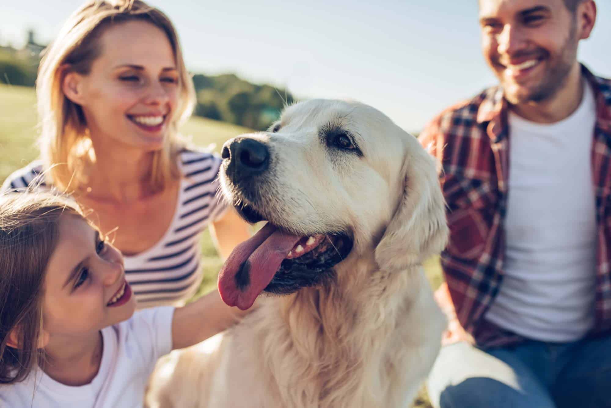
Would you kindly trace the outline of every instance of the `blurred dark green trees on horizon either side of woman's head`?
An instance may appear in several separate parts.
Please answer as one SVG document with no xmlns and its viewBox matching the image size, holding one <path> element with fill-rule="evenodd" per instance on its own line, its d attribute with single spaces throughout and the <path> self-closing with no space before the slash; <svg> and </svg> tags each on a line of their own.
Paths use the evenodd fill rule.
<svg viewBox="0 0 611 408">
<path fill-rule="evenodd" d="M 34 32 L 28 35 L 22 49 L 0 46 L 0 83 L 34 86 L 43 46 L 35 43 Z M 293 103 L 293 95 L 284 89 L 252 84 L 233 74 L 196 74 L 193 84 L 197 94 L 194 114 L 251 129 L 267 129 L 285 104 Z"/>
</svg>

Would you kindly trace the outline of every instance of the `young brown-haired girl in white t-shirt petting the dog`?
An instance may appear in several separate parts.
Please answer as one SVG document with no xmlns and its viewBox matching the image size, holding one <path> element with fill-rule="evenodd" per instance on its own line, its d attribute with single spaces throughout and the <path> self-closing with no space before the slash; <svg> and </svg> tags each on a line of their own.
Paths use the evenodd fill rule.
<svg viewBox="0 0 611 408">
<path fill-rule="evenodd" d="M 54 195 L 0 196 L 0 406 L 141 407 L 156 360 L 243 312 L 218 292 L 137 311 L 123 257 Z"/>
</svg>

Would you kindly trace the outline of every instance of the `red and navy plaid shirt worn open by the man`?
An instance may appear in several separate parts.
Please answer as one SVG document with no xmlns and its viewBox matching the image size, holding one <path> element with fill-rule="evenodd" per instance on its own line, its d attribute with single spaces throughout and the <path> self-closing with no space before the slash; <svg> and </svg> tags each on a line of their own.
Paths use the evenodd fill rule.
<svg viewBox="0 0 611 408">
<path fill-rule="evenodd" d="M 611 80 L 596 77 L 585 67 L 582 73 L 594 89 L 597 118 L 591 156 L 598 245 L 596 323 L 591 333 L 595 335 L 611 329 Z M 503 281 L 507 112 L 502 89 L 492 87 L 442 112 L 420 136 L 444 170 L 440 180 L 448 204 L 450 242 L 441 255 L 447 285 L 436 296 L 450 316 L 447 335 L 465 340 L 452 333 L 461 332 L 483 347 L 524 340 L 483 319 Z"/>
</svg>

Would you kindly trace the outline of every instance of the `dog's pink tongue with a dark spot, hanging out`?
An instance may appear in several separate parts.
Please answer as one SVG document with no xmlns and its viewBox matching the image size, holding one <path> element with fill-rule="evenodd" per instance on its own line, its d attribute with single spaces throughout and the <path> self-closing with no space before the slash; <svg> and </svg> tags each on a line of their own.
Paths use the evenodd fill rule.
<svg viewBox="0 0 611 408">
<path fill-rule="evenodd" d="M 268 222 L 252 238 L 235 247 L 219 273 L 223 301 L 241 310 L 251 307 L 299 239 L 301 236 L 280 231 Z"/>
</svg>

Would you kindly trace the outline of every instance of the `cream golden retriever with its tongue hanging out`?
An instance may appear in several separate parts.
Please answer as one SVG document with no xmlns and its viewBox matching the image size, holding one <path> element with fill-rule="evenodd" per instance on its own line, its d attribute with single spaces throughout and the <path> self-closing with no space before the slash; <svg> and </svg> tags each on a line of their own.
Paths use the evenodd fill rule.
<svg viewBox="0 0 611 408">
<path fill-rule="evenodd" d="M 409 407 L 445 319 L 422 261 L 447 241 L 436 162 L 370 106 L 310 100 L 222 149 L 224 197 L 268 223 L 219 274 L 255 310 L 170 354 L 150 407 Z"/>
</svg>

